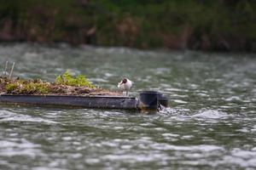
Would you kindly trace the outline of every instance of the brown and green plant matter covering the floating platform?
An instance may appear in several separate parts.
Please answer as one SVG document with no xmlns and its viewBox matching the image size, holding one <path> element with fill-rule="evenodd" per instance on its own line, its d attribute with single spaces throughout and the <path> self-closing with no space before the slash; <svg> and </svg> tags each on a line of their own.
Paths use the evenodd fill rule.
<svg viewBox="0 0 256 170">
<path fill-rule="evenodd" d="M 68 71 L 56 77 L 55 82 L 0 77 L 0 94 L 122 95 L 96 88 L 83 75 L 72 77 Z"/>
</svg>

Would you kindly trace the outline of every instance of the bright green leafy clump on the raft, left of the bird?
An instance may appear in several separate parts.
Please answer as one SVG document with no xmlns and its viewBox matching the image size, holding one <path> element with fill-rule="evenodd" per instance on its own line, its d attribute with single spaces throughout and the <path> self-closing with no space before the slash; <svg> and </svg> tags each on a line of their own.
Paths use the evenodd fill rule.
<svg viewBox="0 0 256 170">
<path fill-rule="evenodd" d="M 84 75 L 79 75 L 77 77 L 72 77 L 68 71 L 59 75 L 55 78 L 56 84 L 68 85 L 68 86 L 86 86 L 88 88 L 95 88 Z"/>
</svg>

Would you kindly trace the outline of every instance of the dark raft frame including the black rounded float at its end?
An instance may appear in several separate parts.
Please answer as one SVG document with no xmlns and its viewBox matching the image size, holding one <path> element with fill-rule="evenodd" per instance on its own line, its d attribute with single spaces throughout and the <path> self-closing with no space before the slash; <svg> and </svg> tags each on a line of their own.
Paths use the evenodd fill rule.
<svg viewBox="0 0 256 170">
<path fill-rule="evenodd" d="M 160 103 L 161 102 L 161 103 Z M 1 94 L 2 104 L 60 105 L 96 109 L 122 109 L 139 111 L 159 111 L 167 99 L 154 91 L 144 91 L 139 98 L 125 96 L 82 96 L 82 95 L 22 95 Z M 166 106 L 166 105 L 164 105 Z"/>
</svg>

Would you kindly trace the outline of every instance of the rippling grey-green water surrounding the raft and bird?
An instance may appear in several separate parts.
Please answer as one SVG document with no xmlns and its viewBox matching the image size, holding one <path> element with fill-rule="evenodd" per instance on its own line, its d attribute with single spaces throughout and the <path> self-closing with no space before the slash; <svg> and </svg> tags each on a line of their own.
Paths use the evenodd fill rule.
<svg viewBox="0 0 256 170">
<path fill-rule="evenodd" d="M 54 81 L 69 70 L 116 90 L 160 91 L 157 114 L 0 105 L 0 169 L 255 169 L 256 56 L 66 44 L 2 44 L 1 71 Z"/>
</svg>

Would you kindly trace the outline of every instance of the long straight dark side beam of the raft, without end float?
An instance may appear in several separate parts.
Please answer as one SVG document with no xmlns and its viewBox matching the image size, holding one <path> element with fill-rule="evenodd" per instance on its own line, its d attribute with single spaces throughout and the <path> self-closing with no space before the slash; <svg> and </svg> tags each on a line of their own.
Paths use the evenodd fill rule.
<svg viewBox="0 0 256 170">
<path fill-rule="evenodd" d="M 137 99 L 119 96 L 78 95 L 0 95 L 1 103 L 32 105 L 63 105 L 102 109 L 136 109 Z"/>
</svg>

